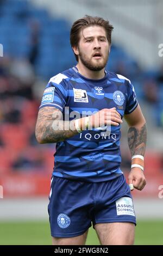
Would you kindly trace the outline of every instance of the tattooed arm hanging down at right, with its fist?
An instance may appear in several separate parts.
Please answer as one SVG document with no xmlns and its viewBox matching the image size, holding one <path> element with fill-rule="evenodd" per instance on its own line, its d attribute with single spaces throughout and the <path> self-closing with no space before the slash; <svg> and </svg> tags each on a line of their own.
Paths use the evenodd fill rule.
<svg viewBox="0 0 163 256">
<path fill-rule="evenodd" d="M 128 130 L 128 145 L 133 155 L 145 155 L 146 141 L 147 141 L 147 128 L 146 120 L 143 117 L 141 108 L 138 105 L 131 114 L 125 115 L 129 130 Z M 139 167 L 134 167 L 128 176 L 129 184 L 133 183 L 137 190 L 142 190 L 146 185 L 146 179 Z"/>
</svg>

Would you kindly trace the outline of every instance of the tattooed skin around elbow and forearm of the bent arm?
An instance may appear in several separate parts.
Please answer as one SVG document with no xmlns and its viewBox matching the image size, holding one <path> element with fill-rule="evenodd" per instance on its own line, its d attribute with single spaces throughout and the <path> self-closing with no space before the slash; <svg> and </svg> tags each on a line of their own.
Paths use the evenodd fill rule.
<svg viewBox="0 0 163 256">
<path fill-rule="evenodd" d="M 76 135 L 76 129 L 70 127 L 70 121 L 62 121 L 61 111 L 57 108 L 43 107 L 39 110 L 36 123 L 36 138 L 41 143 L 55 143 Z M 57 129 L 58 127 L 58 129 Z"/>
</svg>

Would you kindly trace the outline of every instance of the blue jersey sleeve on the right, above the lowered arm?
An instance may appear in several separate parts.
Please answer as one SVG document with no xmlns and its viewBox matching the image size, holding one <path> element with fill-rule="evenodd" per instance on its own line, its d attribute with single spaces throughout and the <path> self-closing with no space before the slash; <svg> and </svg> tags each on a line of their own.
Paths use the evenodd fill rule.
<svg viewBox="0 0 163 256">
<path fill-rule="evenodd" d="M 126 109 L 124 111 L 124 114 L 132 113 L 138 105 L 134 86 L 133 84 L 130 83 L 130 81 L 128 81 L 127 83 L 128 83 L 128 93 L 127 93 Z"/>
</svg>

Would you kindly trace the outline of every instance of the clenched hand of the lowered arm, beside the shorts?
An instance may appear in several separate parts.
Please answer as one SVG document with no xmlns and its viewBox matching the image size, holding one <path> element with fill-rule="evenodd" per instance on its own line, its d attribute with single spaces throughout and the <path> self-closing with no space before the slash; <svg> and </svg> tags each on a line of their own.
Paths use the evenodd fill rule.
<svg viewBox="0 0 163 256">
<path fill-rule="evenodd" d="M 146 179 L 143 171 L 137 167 L 132 168 L 128 176 L 128 182 L 129 184 L 133 184 L 136 190 L 142 190 L 146 186 Z"/>
</svg>

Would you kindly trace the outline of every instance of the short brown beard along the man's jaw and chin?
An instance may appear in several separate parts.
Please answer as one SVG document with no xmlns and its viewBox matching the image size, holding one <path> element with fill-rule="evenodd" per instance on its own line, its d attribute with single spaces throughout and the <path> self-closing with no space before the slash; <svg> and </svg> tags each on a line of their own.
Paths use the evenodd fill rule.
<svg viewBox="0 0 163 256">
<path fill-rule="evenodd" d="M 84 66 L 86 66 L 87 69 L 91 71 L 100 71 L 103 68 L 105 68 L 106 63 L 108 62 L 109 51 L 106 54 L 105 58 L 100 60 L 99 63 L 94 63 L 93 60 L 88 60 L 86 58 L 86 55 L 83 54 L 80 50 L 79 50 L 78 57 L 80 58 L 81 62 L 83 63 Z"/>
</svg>

